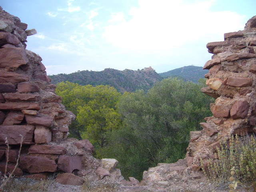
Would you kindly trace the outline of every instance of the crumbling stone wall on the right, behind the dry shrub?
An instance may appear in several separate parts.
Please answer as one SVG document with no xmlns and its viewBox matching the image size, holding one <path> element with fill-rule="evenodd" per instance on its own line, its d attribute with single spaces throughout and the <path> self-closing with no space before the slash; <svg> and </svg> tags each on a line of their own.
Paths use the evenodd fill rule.
<svg viewBox="0 0 256 192">
<path fill-rule="evenodd" d="M 213 116 L 200 123 L 203 130 L 191 132 L 187 164 L 200 169 L 200 158 L 214 158 L 219 140 L 230 134 L 256 133 L 256 16 L 243 31 L 224 34 L 224 41 L 206 45 L 212 60 L 204 69 L 208 87 L 202 92 L 216 98 L 210 104 Z"/>
</svg>

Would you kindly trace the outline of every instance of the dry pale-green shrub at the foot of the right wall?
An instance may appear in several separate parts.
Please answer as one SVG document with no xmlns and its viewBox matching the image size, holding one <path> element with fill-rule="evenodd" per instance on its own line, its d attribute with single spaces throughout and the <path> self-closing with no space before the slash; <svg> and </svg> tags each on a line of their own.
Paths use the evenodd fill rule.
<svg viewBox="0 0 256 192">
<path fill-rule="evenodd" d="M 220 188 L 235 187 L 237 184 L 254 186 L 256 180 L 256 137 L 230 136 L 228 141 L 220 142 L 216 159 L 207 160 L 207 169 L 201 166 L 205 176 Z M 234 186 L 233 186 L 234 184 Z"/>
</svg>

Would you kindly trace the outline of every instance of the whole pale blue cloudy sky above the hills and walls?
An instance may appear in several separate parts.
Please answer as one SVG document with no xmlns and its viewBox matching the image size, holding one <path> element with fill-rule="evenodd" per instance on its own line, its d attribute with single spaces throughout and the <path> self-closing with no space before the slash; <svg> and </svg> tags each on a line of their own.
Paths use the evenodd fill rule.
<svg viewBox="0 0 256 192">
<path fill-rule="evenodd" d="M 206 44 L 243 30 L 256 0 L 0 0 L 3 10 L 35 28 L 27 49 L 48 75 L 204 66 Z"/>
</svg>

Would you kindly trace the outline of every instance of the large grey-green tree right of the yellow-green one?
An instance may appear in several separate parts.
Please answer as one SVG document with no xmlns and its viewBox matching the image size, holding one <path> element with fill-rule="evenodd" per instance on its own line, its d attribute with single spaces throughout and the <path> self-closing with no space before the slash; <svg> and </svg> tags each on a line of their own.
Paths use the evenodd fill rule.
<svg viewBox="0 0 256 192">
<path fill-rule="evenodd" d="M 142 172 L 158 162 L 184 158 L 190 131 L 201 130 L 199 123 L 209 110 L 212 98 L 202 94 L 199 84 L 168 78 L 145 94 L 142 90 L 125 94 L 118 102 L 123 126 L 107 134 L 102 157 L 116 158 L 125 177 L 142 178 Z"/>
</svg>

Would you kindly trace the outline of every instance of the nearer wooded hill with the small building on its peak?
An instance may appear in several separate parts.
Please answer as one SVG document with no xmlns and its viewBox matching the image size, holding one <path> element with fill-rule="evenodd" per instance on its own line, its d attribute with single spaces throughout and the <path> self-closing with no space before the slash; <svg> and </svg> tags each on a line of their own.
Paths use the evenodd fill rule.
<svg viewBox="0 0 256 192">
<path fill-rule="evenodd" d="M 107 68 L 103 71 L 78 71 L 71 74 L 49 75 L 52 83 L 62 81 L 78 83 L 80 85 L 109 85 L 121 93 L 135 92 L 135 90 L 149 90 L 152 86 L 162 80 L 162 77 L 151 67 L 142 70 L 115 70 Z"/>
</svg>

